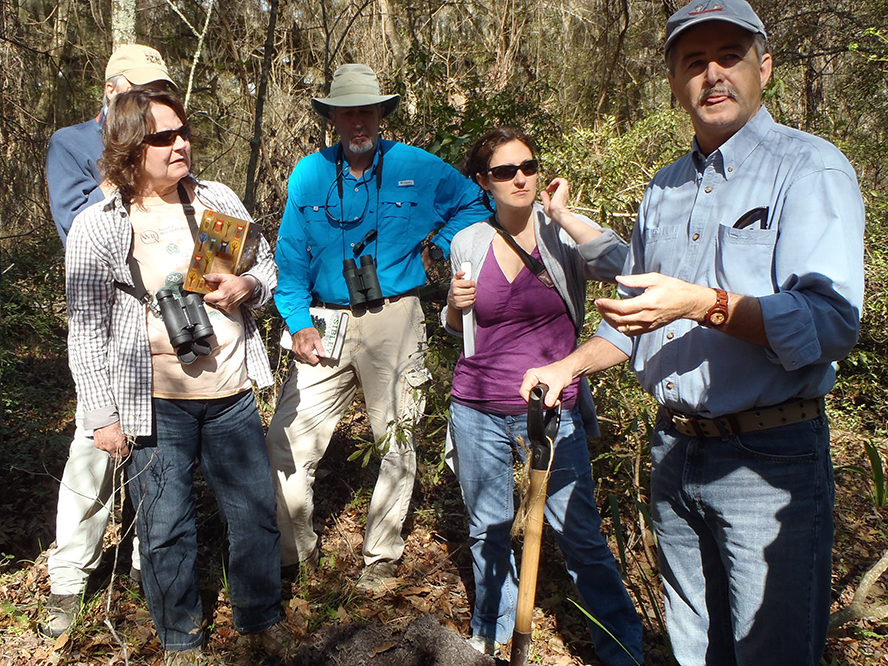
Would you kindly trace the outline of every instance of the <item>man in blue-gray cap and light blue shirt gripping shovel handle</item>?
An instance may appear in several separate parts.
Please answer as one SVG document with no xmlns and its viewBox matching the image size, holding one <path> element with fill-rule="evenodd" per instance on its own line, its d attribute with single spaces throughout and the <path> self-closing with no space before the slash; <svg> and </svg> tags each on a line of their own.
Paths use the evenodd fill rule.
<svg viewBox="0 0 888 666">
<path fill-rule="evenodd" d="M 694 0 L 666 62 L 692 151 L 648 186 L 623 300 L 596 336 L 528 371 L 557 396 L 629 359 L 660 404 L 651 503 L 682 666 L 820 663 L 830 607 L 833 476 L 824 395 L 857 341 L 864 210 L 848 160 L 778 125 L 762 22 Z"/>
</svg>

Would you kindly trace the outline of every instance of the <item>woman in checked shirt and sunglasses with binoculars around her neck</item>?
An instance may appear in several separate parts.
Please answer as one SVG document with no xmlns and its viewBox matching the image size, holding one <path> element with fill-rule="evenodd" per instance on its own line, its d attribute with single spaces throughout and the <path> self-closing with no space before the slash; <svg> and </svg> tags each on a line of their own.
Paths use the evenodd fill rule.
<svg viewBox="0 0 888 666">
<path fill-rule="evenodd" d="M 117 95 L 104 143 L 110 194 L 77 216 L 67 245 L 70 364 L 95 445 L 128 458 L 142 584 L 166 663 L 201 659 L 198 462 L 227 522 L 235 626 L 283 655 L 293 639 L 280 623 L 280 534 L 252 392 L 252 382 L 272 383 L 250 313 L 277 283 L 271 251 L 262 238 L 246 273 L 206 276 L 204 307 L 181 290 L 194 217 L 249 215 L 229 188 L 191 175 L 182 103 L 155 90 Z"/>
</svg>

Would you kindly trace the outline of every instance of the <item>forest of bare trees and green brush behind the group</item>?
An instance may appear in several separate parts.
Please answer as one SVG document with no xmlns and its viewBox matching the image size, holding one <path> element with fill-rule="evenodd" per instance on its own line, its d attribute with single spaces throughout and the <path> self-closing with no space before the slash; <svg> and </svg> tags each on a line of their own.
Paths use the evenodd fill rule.
<svg viewBox="0 0 888 666">
<path fill-rule="evenodd" d="M 40 599 L 29 602 L 14 591 L 47 591 L 35 562 L 53 539 L 75 404 L 64 251 L 46 198 L 46 148 L 56 129 L 98 112 L 115 40 L 130 35 L 161 52 L 199 129 L 194 172 L 241 194 L 272 243 L 293 165 L 335 140 L 310 111 L 309 98 L 325 94 L 345 62 L 370 65 L 384 91 L 402 95 L 384 136 L 458 165 L 466 144 L 486 129 L 520 127 L 540 144 L 544 178 L 568 178 L 575 209 L 628 237 L 645 184 L 686 152 L 692 137 L 661 52 L 666 19 L 679 6 L 675 0 L 2 0 L 0 631 L 7 638 L 33 633 Z M 837 144 L 857 170 L 867 206 L 860 342 L 839 364 L 828 396 L 839 485 L 838 609 L 888 544 L 888 2 L 760 0 L 755 8 L 776 65 L 767 108 L 779 122 Z M 447 267 L 434 273 L 430 322 L 449 279 Z M 592 308 L 588 330 L 595 323 Z M 261 325 L 280 379 L 288 359 L 276 345 L 280 321 L 273 307 Z M 414 511 L 428 518 L 431 533 L 443 533 L 448 512 L 462 511 L 452 475 L 440 464 L 458 351 L 433 323 L 430 331 L 435 383 L 420 433 L 422 492 Z M 644 508 L 651 403 L 625 368 L 596 377 L 593 388 L 605 425 L 602 442 L 590 445 L 599 504 L 611 519 L 605 529 L 639 605 L 654 607 L 656 565 Z M 266 417 L 274 396 L 260 395 Z M 340 433 L 344 456 L 371 461 L 366 423 L 360 414 L 348 423 Z M 354 478 L 360 486 L 361 477 Z M 364 491 L 350 492 L 346 503 L 360 511 Z M 434 499 L 447 493 L 452 501 Z M 445 541 L 458 540 L 459 525 L 454 529 L 457 535 Z M 454 561 L 465 575 L 467 559 L 460 558 Z M 866 588 L 870 607 L 888 598 L 879 573 Z M 342 609 L 333 614 L 339 622 L 350 613 Z M 668 654 L 657 613 L 648 615 L 650 640 Z M 464 618 L 455 624 L 464 628 Z M 825 663 L 878 663 L 885 634 L 878 620 L 856 622 L 831 639 Z M 22 649 L 26 657 L 35 654 Z M 71 649 L 57 651 L 54 663 Z"/>
</svg>

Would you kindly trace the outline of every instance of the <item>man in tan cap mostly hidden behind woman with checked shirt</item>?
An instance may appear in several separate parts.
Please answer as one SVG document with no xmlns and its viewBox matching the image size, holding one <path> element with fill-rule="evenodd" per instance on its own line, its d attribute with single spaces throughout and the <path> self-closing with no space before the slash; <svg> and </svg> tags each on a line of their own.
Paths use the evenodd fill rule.
<svg viewBox="0 0 888 666">
<path fill-rule="evenodd" d="M 102 125 L 114 96 L 133 86 L 176 88 L 160 54 L 149 46 L 127 44 L 115 50 L 105 69 L 102 110 L 91 120 L 58 130 L 49 141 L 46 184 L 63 245 L 76 215 L 105 198 L 98 167 Z M 48 563 L 52 588 L 47 617 L 40 626 L 52 637 L 64 633 L 80 609 L 86 580 L 101 559 L 102 537 L 113 504 L 113 462 L 93 445 L 79 406 L 76 426 L 59 488 L 56 547 Z M 139 573 L 138 553 L 134 545 L 134 577 Z"/>
</svg>

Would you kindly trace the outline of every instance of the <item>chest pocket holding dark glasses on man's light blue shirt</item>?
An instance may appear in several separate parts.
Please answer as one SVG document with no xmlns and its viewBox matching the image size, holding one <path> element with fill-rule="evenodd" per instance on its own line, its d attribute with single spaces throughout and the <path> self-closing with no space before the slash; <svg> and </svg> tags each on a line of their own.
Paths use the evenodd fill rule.
<svg viewBox="0 0 888 666">
<path fill-rule="evenodd" d="M 728 291 L 748 296 L 773 294 L 774 245 L 773 229 L 734 229 L 719 225 L 718 252 L 715 270 L 718 283 Z"/>
</svg>

